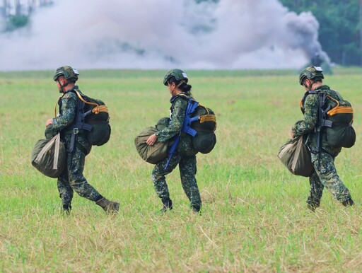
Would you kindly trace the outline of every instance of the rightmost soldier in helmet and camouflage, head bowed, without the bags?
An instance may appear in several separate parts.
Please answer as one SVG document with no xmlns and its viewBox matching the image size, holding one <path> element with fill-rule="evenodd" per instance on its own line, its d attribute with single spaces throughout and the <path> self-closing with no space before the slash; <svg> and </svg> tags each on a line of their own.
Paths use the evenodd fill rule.
<svg viewBox="0 0 362 273">
<path fill-rule="evenodd" d="M 324 76 L 320 67 L 308 66 L 301 71 L 299 83 L 306 91 L 323 91 L 338 100 L 336 91 L 331 90 L 329 86 L 323 85 L 322 79 L 324 79 Z M 311 151 L 311 158 L 315 168 L 315 171 L 309 178 L 310 194 L 307 200 L 308 208 L 314 211 L 315 208 L 320 206 L 320 199 L 325 187 L 345 207 L 353 205 L 354 202 L 351 194 L 339 178 L 334 167 L 334 158 L 341 151 L 341 147 L 330 146 L 327 142 L 326 134 L 322 134 L 322 149 L 320 149 L 318 164 L 318 153 L 316 152 L 317 132 L 315 130 L 318 119 L 318 95 L 307 95 L 302 106 L 304 108 L 304 119 L 294 124 L 291 129 L 291 137 L 308 135 L 307 144 Z"/>
</svg>

